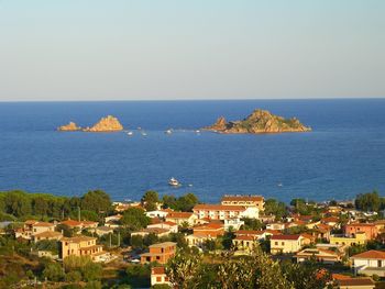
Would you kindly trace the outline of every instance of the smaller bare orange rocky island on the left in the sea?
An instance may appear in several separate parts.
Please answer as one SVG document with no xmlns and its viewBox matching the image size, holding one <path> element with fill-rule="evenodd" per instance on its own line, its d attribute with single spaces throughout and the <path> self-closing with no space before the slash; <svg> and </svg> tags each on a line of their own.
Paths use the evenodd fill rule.
<svg viewBox="0 0 385 289">
<path fill-rule="evenodd" d="M 81 129 L 80 126 L 77 126 L 75 122 L 69 122 L 66 125 L 62 125 L 57 127 L 61 132 L 75 132 L 75 131 L 82 131 L 82 132 L 119 132 L 123 130 L 123 125 L 119 122 L 119 120 L 112 115 L 108 115 L 106 118 L 102 118 L 99 122 L 97 122 L 91 127 L 85 127 Z"/>
</svg>

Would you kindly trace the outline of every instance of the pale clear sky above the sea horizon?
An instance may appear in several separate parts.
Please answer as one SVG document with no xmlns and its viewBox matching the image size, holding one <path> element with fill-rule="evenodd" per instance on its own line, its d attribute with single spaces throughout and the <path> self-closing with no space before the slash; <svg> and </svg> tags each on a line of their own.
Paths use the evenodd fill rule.
<svg viewBox="0 0 385 289">
<path fill-rule="evenodd" d="M 0 101 L 385 97 L 384 0 L 0 0 Z"/>
</svg>

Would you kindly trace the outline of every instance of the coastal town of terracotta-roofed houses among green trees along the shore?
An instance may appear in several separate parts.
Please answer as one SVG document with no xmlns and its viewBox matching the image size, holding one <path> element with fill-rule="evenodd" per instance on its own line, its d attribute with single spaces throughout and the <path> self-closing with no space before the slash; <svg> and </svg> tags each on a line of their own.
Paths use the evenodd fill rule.
<svg viewBox="0 0 385 289">
<path fill-rule="evenodd" d="M 195 288 L 187 285 L 193 271 L 175 268 L 186 256 L 201 256 L 202 264 L 258 256 L 302 264 L 314 268 L 308 277 L 316 276 L 321 286 L 312 288 L 382 288 L 385 277 L 385 220 L 377 192 L 354 201 L 294 199 L 285 204 L 257 194 L 223 194 L 218 203 L 201 203 L 193 193 L 161 199 L 155 191 L 138 202 L 111 202 L 107 193 L 90 191 L 77 207 L 62 200 L 57 214 L 44 196 L 34 197 L 29 211 L 21 204 L 24 194 L 0 193 L 1 288 L 67 288 L 87 281 L 100 288 Z M 82 263 L 98 274 L 90 278 L 79 268 Z M 7 270 L 12 266 L 18 270 Z M 117 278 L 122 270 L 125 277 Z M 287 288 L 310 288 L 293 282 Z"/>
</svg>

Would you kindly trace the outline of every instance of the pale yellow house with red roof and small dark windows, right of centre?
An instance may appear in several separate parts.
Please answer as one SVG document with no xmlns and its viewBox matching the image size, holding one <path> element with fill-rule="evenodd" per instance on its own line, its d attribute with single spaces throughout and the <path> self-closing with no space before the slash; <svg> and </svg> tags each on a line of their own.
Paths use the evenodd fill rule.
<svg viewBox="0 0 385 289">
<path fill-rule="evenodd" d="M 302 235 L 273 235 L 270 240 L 271 253 L 297 253 L 302 246 L 310 244 L 310 240 Z"/>
</svg>

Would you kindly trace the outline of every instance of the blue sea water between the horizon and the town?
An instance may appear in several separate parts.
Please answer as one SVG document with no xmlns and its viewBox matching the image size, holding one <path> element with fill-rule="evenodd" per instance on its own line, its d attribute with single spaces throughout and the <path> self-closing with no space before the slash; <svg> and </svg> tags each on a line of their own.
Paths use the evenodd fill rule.
<svg viewBox="0 0 385 289">
<path fill-rule="evenodd" d="M 255 108 L 297 116 L 314 131 L 194 132 Z M 134 135 L 55 131 L 68 121 L 91 125 L 107 114 Z M 0 115 L 0 190 L 80 196 L 99 188 L 113 200 L 138 200 L 154 189 L 191 191 L 206 202 L 224 193 L 321 201 L 385 191 L 385 99 L 2 102 Z M 176 131 L 166 135 L 169 127 Z M 170 188 L 170 177 L 184 186 Z"/>
</svg>

